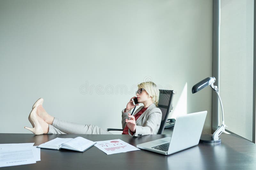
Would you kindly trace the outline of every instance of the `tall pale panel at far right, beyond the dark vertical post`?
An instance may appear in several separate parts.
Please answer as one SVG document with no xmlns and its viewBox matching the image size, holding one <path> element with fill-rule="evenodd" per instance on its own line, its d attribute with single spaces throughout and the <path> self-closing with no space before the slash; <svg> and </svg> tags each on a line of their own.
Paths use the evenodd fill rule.
<svg viewBox="0 0 256 170">
<path fill-rule="evenodd" d="M 222 0 L 220 16 L 220 96 L 226 129 L 252 141 L 253 0 Z"/>
</svg>

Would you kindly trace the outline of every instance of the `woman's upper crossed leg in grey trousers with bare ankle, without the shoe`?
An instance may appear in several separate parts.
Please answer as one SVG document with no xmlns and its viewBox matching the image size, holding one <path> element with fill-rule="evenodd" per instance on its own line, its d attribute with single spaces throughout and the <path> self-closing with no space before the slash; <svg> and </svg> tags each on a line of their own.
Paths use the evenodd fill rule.
<svg viewBox="0 0 256 170">
<path fill-rule="evenodd" d="M 37 115 L 41 117 L 46 123 L 49 124 L 49 132 L 57 134 L 112 134 L 105 129 L 102 129 L 95 125 L 76 124 L 63 120 L 59 120 L 56 117 L 49 115 L 42 105 L 37 107 Z M 55 129 L 50 126 L 52 125 Z M 57 128 L 57 129 L 56 129 Z M 48 133 L 49 133 L 48 132 Z"/>
</svg>

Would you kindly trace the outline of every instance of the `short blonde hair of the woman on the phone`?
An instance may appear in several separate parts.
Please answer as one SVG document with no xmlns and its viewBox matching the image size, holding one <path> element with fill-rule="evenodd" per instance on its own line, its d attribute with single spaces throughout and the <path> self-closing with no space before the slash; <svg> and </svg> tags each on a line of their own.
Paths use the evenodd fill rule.
<svg viewBox="0 0 256 170">
<path fill-rule="evenodd" d="M 159 89 L 156 87 L 156 84 L 152 81 L 142 82 L 138 84 L 139 89 L 145 89 L 149 96 L 152 97 L 152 102 L 158 106 L 159 100 Z"/>
</svg>

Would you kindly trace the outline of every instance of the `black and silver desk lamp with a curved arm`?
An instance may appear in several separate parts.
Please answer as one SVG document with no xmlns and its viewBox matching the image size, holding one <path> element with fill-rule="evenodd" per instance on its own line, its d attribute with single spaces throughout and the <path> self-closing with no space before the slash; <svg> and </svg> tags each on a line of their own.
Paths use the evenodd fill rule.
<svg viewBox="0 0 256 170">
<path fill-rule="evenodd" d="M 220 144 L 221 143 L 221 139 L 219 138 L 220 134 L 225 131 L 225 127 L 227 127 L 224 124 L 224 112 L 223 112 L 223 106 L 222 106 L 222 102 L 220 99 L 220 94 L 218 91 L 218 87 L 214 86 L 213 83 L 216 81 L 215 77 L 207 77 L 206 79 L 196 83 L 193 87 L 192 87 L 192 94 L 204 89 L 207 86 L 211 86 L 212 90 L 216 91 L 219 100 L 220 100 L 220 105 L 221 105 L 221 111 L 222 111 L 222 124 L 221 126 L 213 133 L 213 135 L 211 134 L 205 134 L 205 135 L 201 135 L 201 138 L 199 140 L 200 143 L 204 143 L 204 144 Z"/>
</svg>

